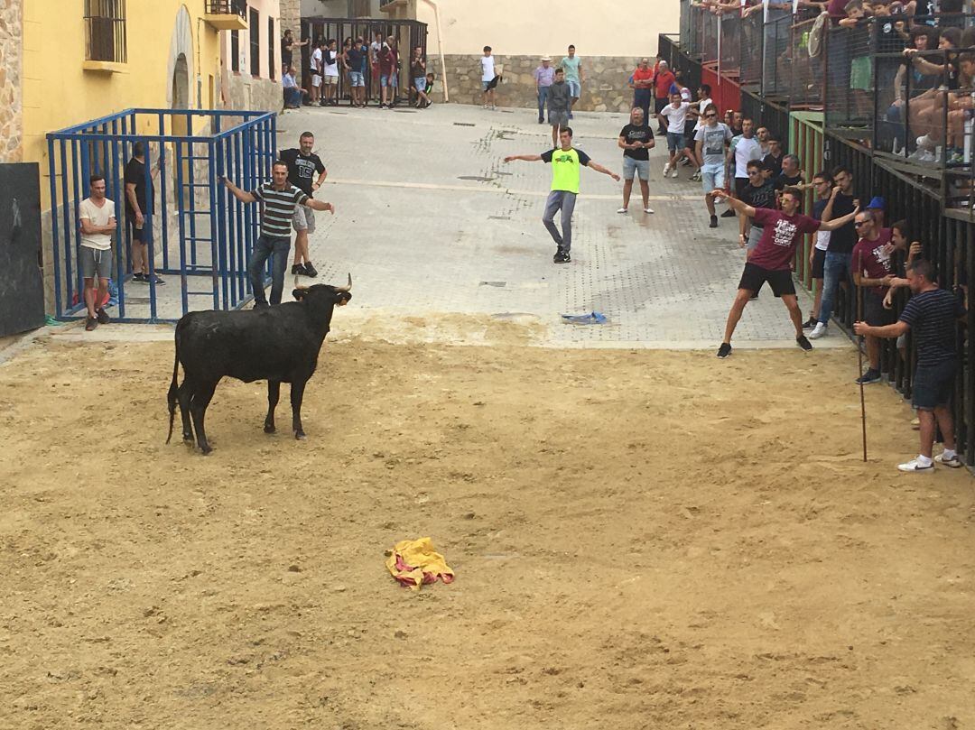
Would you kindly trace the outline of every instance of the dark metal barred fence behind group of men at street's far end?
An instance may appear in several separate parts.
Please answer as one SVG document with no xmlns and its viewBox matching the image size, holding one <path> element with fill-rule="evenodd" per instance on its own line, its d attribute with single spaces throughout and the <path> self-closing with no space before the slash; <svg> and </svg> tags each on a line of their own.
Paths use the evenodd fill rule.
<svg viewBox="0 0 975 730">
<path fill-rule="evenodd" d="M 421 49 L 423 58 L 427 58 L 427 24 L 418 20 L 383 20 L 383 19 L 342 19 L 342 18 L 302 18 L 301 37 L 310 38 L 312 43 L 319 39 L 334 40 L 338 47 L 338 53 L 348 39 L 355 40 L 362 38 L 367 44 L 373 39 L 375 33 L 381 33 L 383 40 L 392 36 L 396 41 L 397 69 L 395 74 L 394 103 L 399 103 L 409 95 L 409 59 L 412 57 L 413 49 L 417 46 Z M 312 47 L 303 46 L 301 48 L 301 67 L 309 68 L 311 65 Z M 429 59 L 428 59 L 429 60 Z M 340 63 L 341 61 L 339 61 Z M 428 65 L 427 70 L 432 68 Z M 437 72 L 434 71 L 436 74 Z M 438 74 L 439 75 L 439 74 Z M 369 99 L 379 98 L 379 73 L 377 68 L 367 68 L 365 74 L 366 97 Z M 311 77 L 303 74 L 302 81 L 306 89 L 311 89 Z M 336 99 L 347 99 L 351 103 L 351 85 L 349 76 L 341 69 L 338 74 L 338 90 L 335 93 Z"/>
</svg>

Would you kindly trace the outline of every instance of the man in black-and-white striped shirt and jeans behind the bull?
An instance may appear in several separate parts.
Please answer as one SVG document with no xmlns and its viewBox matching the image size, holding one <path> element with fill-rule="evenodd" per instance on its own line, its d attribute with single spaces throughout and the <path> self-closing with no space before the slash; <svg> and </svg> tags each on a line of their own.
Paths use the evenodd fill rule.
<svg viewBox="0 0 975 730">
<path fill-rule="evenodd" d="M 271 168 L 271 182 L 265 182 L 251 192 L 245 192 L 226 177 L 223 184 L 241 203 L 262 205 L 260 215 L 260 236 L 251 252 L 247 270 L 254 289 L 254 309 L 268 306 L 264 297 L 264 264 L 271 260 L 271 304 L 281 304 L 281 294 L 285 290 L 285 270 L 288 268 L 288 253 L 292 249 L 292 218 L 298 206 L 313 211 L 335 212 L 331 203 L 309 198 L 288 181 L 288 164 L 278 160 Z"/>
</svg>

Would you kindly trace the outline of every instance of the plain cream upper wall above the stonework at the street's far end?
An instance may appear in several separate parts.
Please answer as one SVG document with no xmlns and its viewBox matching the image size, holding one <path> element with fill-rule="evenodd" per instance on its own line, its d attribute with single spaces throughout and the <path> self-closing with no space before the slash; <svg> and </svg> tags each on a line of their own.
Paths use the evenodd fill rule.
<svg viewBox="0 0 975 730">
<path fill-rule="evenodd" d="M 415 5 L 413 5 L 415 3 Z M 437 0 L 444 53 L 480 55 L 490 46 L 499 56 L 565 55 L 575 44 L 582 58 L 654 56 L 659 33 L 680 30 L 676 0 Z M 439 53 L 433 8 L 410 0 L 403 9 L 429 25 L 428 53 Z"/>
</svg>

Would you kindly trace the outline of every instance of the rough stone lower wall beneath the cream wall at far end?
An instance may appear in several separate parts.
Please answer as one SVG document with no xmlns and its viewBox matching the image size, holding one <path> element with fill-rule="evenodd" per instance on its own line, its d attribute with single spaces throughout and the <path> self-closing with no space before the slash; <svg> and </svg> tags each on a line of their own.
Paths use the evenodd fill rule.
<svg viewBox="0 0 975 730">
<path fill-rule="evenodd" d="M 448 55 L 447 81 L 450 100 L 462 104 L 480 104 L 480 56 Z M 538 56 L 495 56 L 495 65 L 503 65 L 503 82 L 495 93 L 499 106 L 536 108 L 535 80 L 531 75 L 541 65 Z M 555 57 L 556 61 L 562 57 Z M 586 57 L 582 59 L 586 83 L 575 104 L 578 111 L 628 111 L 633 105 L 633 90 L 628 79 L 639 58 Z M 437 63 L 438 67 L 440 63 Z M 438 73 L 438 76 L 440 74 Z M 438 85 L 439 87 L 439 85 Z"/>
</svg>

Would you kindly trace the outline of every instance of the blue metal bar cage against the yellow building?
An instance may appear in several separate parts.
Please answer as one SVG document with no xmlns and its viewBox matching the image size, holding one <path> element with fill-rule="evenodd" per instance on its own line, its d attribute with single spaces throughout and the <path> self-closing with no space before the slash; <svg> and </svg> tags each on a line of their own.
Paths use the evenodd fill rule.
<svg viewBox="0 0 975 730">
<path fill-rule="evenodd" d="M 112 237 L 113 319 L 175 322 L 193 309 L 234 309 L 250 301 L 247 261 L 259 212 L 233 198 L 219 178 L 245 190 L 269 179 L 276 135 L 273 113 L 213 109 L 127 109 L 48 134 L 56 317 L 85 314 L 78 206 L 89 196 L 92 174 L 105 178 L 118 221 Z M 148 284 L 132 281 L 135 223 L 125 213 L 125 168 L 136 142 L 146 151 L 145 183 L 155 188 L 144 216 L 144 230 L 151 234 Z M 156 273 L 171 277 L 170 286 L 157 286 Z M 178 288 L 172 286 L 176 281 Z"/>
</svg>

